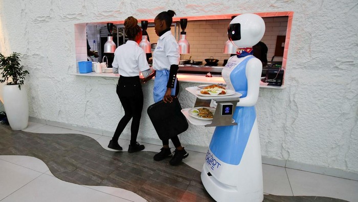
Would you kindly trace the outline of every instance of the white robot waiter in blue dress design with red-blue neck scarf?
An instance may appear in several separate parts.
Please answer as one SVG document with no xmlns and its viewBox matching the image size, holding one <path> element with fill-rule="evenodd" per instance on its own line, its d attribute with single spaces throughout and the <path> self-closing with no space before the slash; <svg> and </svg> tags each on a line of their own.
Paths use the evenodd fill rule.
<svg viewBox="0 0 358 202">
<path fill-rule="evenodd" d="M 216 201 L 263 200 L 255 111 L 262 63 L 253 56 L 252 47 L 261 40 L 264 32 L 264 21 L 256 14 L 238 15 L 228 26 L 228 37 L 237 48 L 237 54 L 223 68 L 222 77 L 227 89 L 242 96 L 233 106 L 236 107 L 233 119 L 237 125 L 215 128 L 201 174 L 204 187 Z"/>
</svg>

